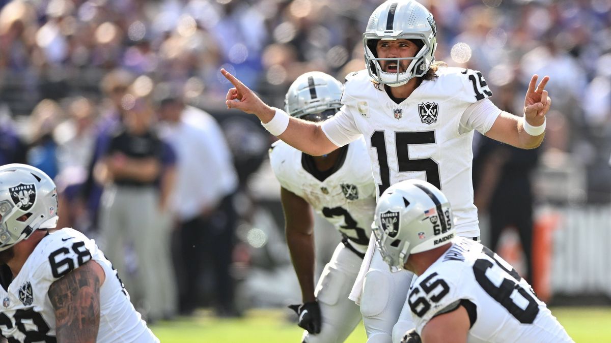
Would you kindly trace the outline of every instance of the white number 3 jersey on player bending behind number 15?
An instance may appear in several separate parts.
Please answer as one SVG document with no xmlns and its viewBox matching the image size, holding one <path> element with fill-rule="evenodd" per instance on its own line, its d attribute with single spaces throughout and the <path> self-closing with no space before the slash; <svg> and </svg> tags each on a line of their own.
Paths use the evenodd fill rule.
<svg viewBox="0 0 611 343">
<path fill-rule="evenodd" d="M 269 161 L 282 187 L 312 205 L 364 253 L 376 208 L 376 185 L 365 141 L 358 139 L 347 148 L 338 159 L 337 170 L 323 181 L 307 171 L 307 155 L 282 141 L 272 145 Z"/>
</svg>

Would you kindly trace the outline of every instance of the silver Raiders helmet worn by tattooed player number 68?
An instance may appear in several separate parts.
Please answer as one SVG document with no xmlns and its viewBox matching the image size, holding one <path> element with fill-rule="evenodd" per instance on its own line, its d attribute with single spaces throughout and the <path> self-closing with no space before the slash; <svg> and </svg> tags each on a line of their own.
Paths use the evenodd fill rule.
<svg viewBox="0 0 611 343">
<path fill-rule="evenodd" d="M 35 229 L 56 227 L 55 182 L 30 165 L 2 165 L 0 217 L 0 251 L 27 239 Z"/>
</svg>

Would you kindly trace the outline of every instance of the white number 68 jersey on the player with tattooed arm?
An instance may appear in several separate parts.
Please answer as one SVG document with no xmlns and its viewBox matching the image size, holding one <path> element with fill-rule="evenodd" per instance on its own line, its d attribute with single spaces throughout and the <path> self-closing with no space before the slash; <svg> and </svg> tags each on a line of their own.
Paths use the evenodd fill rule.
<svg viewBox="0 0 611 343">
<path fill-rule="evenodd" d="M 100 286 L 97 342 L 159 342 L 131 305 L 117 271 L 95 241 L 71 228 L 43 237 L 8 290 L 4 285 L 0 287 L 2 336 L 9 342 L 56 342 L 49 286 L 90 260 L 100 264 L 106 273 Z"/>
</svg>

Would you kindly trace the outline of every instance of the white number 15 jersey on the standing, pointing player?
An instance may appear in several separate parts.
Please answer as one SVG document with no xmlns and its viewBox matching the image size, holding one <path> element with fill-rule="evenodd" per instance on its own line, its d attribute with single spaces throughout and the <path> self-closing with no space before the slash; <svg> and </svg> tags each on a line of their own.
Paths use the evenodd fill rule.
<svg viewBox="0 0 611 343">
<path fill-rule="evenodd" d="M 500 110 L 485 118 L 463 118 L 469 105 L 492 95 L 486 81 L 479 71 L 461 68 L 439 68 L 437 75 L 397 104 L 383 88 L 375 88 L 367 70 L 349 74 L 342 109 L 322 127 L 340 146 L 363 135 L 378 195 L 405 179 L 428 181 L 450 200 L 458 234 L 475 237 L 473 130 L 488 131 Z"/>
</svg>

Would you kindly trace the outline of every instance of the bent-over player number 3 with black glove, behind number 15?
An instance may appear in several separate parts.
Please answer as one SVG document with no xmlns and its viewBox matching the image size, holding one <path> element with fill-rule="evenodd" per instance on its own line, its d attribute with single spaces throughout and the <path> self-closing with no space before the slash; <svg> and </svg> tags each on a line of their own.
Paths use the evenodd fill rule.
<svg viewBox="0 0 611 343">
<path fill-rule="evenodd" d="M 299 76 L 288 89 L 285 109 L 293 117 L 323 121 L 340 108 L 342 84 L 313 71 Z M 357 139 L 324 156 L 310 156 L 278 141 L 269 160 L 280 182 L 287 244 L 302 292 L 302 305 L 292 305 L 305 328 L 303 342 L 343 342 L 360 321 L 358 306 L 348 299 L 371 236 L 376 184 L 367 158 L 367 145 Z M 315 249 L 311 209 L 342 234 L 331 261 L 314 287 Z M 407 275 L 393 275 L 393 284 L 409 287 Z M 387 306 L 397 319 L 402 299 Z M 397 306 L 400 305 L 400 306 Z M 371 321 L 389 314 L 378 314 Z M 392 320 L 392 319 L 390 319 Z M 386 320 L 387 322 L 387 320 Z"/>
</svg>

